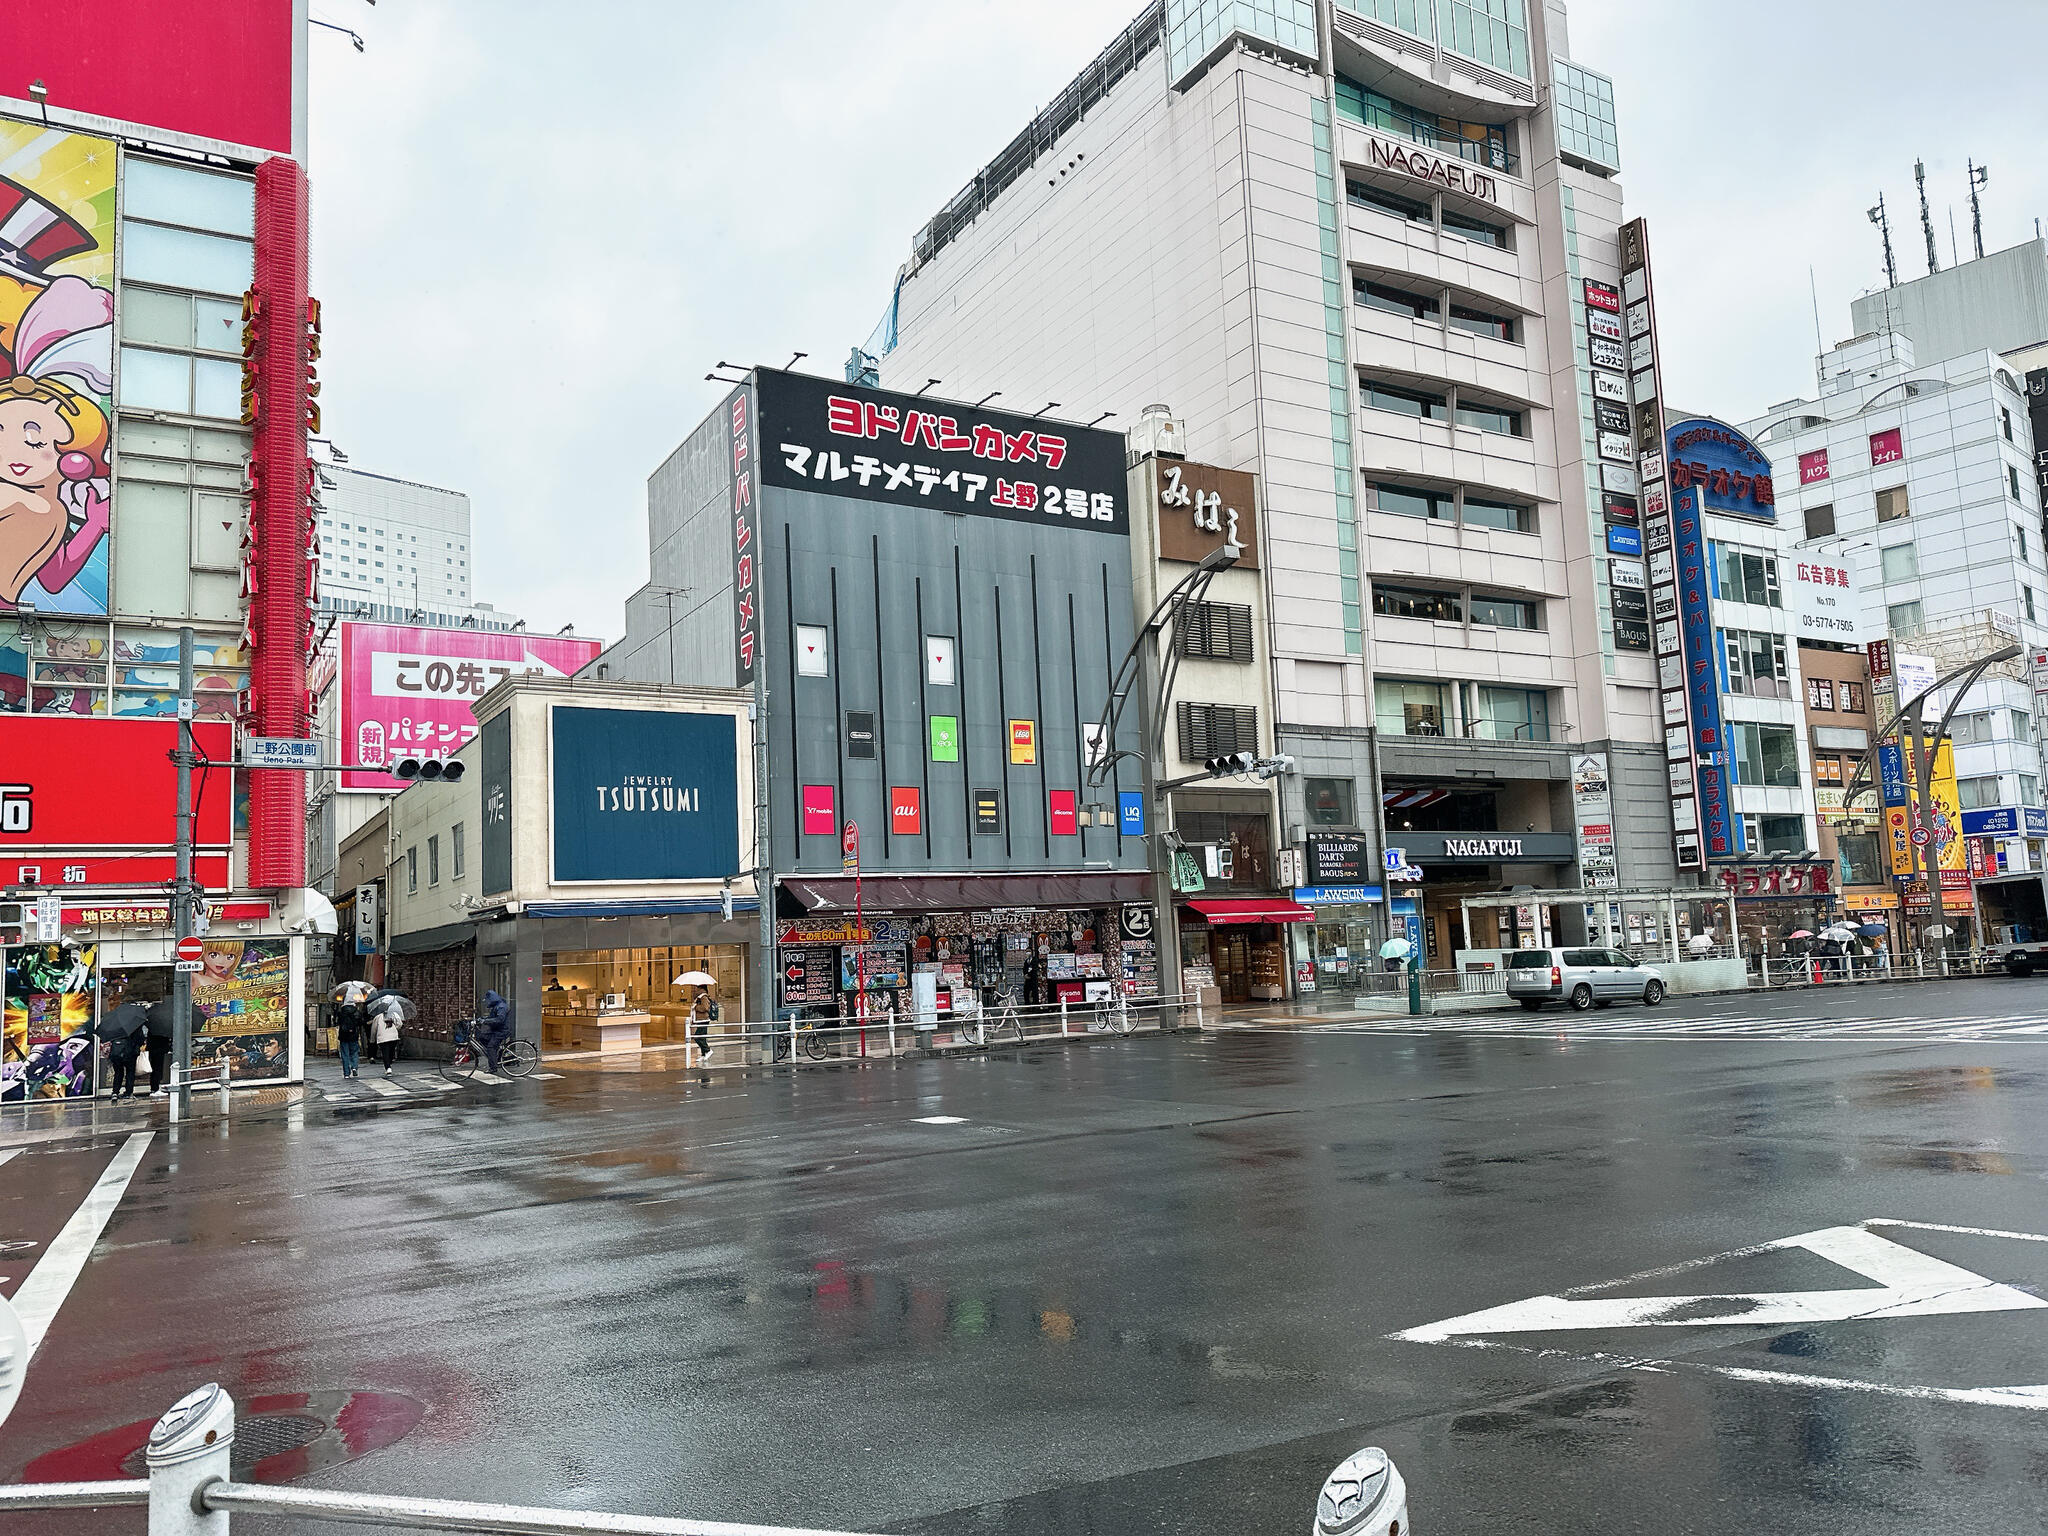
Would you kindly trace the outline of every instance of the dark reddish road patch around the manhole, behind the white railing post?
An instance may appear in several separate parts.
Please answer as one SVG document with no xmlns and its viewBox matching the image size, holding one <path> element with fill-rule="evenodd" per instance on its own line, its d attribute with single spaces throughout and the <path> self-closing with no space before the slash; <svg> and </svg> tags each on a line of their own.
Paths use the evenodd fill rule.
<svg viewBox="0 0 2048 1536">
<path fill-rule="evenodd" d="M 279 1393 L 238 1405 L 233 1477 L 244 1483 L 291 1483 L 328 1466 L 352 1462 L 403 1440 L 426 1417 L 418 1399 L 401 1393 Z M 76 1446 L 37 1456 L 25 1483 L 104 1483 L 147 1477 L 150 1430 L 137 1419 Z"/>
</svg>

